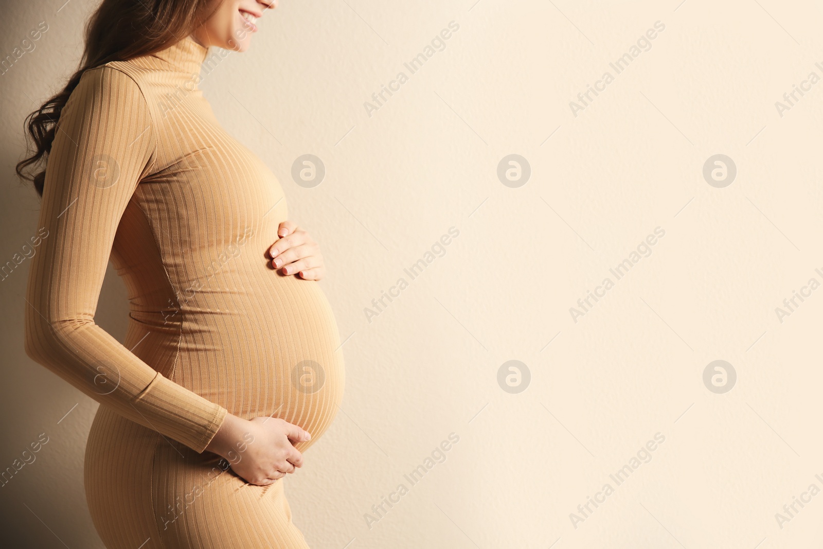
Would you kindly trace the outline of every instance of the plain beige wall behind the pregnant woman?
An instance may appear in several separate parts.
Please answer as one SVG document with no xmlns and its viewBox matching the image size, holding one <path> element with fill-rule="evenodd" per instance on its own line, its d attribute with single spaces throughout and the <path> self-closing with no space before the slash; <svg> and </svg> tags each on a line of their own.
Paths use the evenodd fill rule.
<svg viewBox="0 0 823 549">
<path fill-rule="evenodd" d="M 2 56 L 49 30 L 0 76 L 2 262 L 37 230 L 38 199 L 13 176 L 21 121 L 76 65 L 94 7 L 3 8 Z M 776 0 L 283 0 L 209 73 L 217 117 L 322 244 L 346 339 L 342 409 L 286 483 L 311 547 L 819 546 L 821 18 Z M 657 21 L 618 74 L 609 63 Z M 326 169 L 314 188 L 291 176 L 305 154 Z M 512 154 L 531 173 L 507 185 Z M 704 177 L 707 161 L 723 170 L 715 155 L 725 179 Z M 97 404 L 24 353 L 26 274 L 23 261 L 0 282 L 0 468 L 49 441 L 0 488 L 2 537 L 103 547 L 82 486 Z M 586 312 L 588 291 L 601 297 Z M 122 337 L 126 314 L 109 272 L 97 320 Z M 508 361 L 522 365 L 500 384 Z M 384 497 L 396 503 L 375 513 Z"/>
</svg>

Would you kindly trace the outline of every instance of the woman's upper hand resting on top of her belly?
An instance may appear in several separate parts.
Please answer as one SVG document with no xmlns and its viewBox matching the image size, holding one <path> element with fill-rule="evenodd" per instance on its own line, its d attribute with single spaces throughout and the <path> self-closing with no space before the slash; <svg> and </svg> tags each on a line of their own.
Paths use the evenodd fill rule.
<svg viewBox="0 0 823 549">
<path fill-rule="evenodd" d="M 294 221 L 283 221 L 277 228 L 280 236 L 267 250 L 272 268 L 284 275 L 295 275 L 305 280 L 320 280 L 326 274 L 320 246 Z"/>
</svg>

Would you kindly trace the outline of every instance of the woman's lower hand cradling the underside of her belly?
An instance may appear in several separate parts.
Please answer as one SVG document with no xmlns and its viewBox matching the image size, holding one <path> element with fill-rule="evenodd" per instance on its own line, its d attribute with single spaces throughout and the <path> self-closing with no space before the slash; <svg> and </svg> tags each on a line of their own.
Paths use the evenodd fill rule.
<svg viewBox="0 0 823 549">
<path fill-rule="evenodd" d="M 206 449 L 225 458 L 245 482 L 265 486 L 303 467 L 303 454 L 293 444 L 310 439 L 307 431 L 277 417 L 244 420 L 226 414 Z"/>
</svg>

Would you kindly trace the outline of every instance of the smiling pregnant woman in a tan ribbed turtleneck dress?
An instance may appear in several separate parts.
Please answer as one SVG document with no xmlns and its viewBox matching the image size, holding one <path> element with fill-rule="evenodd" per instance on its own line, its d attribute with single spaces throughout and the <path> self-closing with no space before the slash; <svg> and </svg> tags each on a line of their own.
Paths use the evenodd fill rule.
<svg viewBox="0 0 823 549">
<path fill-rule="evenodd" d="M 308 547 L 280 479 L 342 398 L 323 262 L 198 89 L 209 47 L 244 51 L 275 4 L 104 0 L 80 70 L 28 119 L 17 170 L 46 237 L 26 352 L 100 402 L 85 487 L 109 549 Z M 109 258 L 123 345 L 94 321 Z"/>
</svg>

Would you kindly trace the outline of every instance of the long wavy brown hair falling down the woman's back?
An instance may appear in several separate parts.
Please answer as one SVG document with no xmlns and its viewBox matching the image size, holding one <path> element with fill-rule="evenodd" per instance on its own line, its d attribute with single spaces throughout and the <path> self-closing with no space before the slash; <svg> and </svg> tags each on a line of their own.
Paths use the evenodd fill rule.
<svg viewBox="0 0 823 549">
<path fill-rule="evenodd" d="M 103 0 L 86 22 L 86 45 L 80 67 L 63 91 L 26 117 L 26 156 L 17 163 L 21 179 L 31 181 L 42 197 L 45 163 L 51 151 L 60 111 L 80 82 L 83 72 L 111 61 L 128 61 L 154 54 L 183 40 L 211 16 L 220 0 Z M 33 146 L 29 144 L 33 142 Z"/>
</svg>

